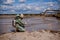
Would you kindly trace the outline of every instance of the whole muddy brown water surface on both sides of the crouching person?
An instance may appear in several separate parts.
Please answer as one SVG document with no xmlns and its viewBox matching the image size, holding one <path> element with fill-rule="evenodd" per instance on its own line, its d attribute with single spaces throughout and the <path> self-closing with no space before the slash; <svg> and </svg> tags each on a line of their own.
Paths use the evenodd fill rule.
<svg viewBox="0 0 60 40">
<path fill-rule="evenodd" d="M 0 19 L 0 33 L 12 32 L 15 28 L 12 26 L 14 18 Z M 30 17 L 24 18 L 26 22 L 26 31 L 39 31 L 42 29 L 60 31 L 60 20 L 55 17 Z"/>
</svg>

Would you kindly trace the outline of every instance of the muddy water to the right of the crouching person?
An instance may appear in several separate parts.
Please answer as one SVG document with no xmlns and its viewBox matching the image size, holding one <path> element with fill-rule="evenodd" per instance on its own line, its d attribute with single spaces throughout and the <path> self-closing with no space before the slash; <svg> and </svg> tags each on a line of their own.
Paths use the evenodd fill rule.
<svg viewBox="0 0 60 40">
<path fill-rule="evenodd" d="M 28 31 L 39 31 L 42 29 L 60 31 L 60 21 L 54 17 L 45 18 L 27 18 L 25 19 L 28 23 L 26 30 Z"/>
</svg>

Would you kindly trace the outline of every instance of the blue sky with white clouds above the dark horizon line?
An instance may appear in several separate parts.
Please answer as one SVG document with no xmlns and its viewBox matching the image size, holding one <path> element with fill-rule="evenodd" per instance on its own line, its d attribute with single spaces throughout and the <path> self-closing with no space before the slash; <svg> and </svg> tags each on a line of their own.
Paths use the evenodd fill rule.
<svg viewBox="0 0 60 40">
<path fill-rule="evenodd" d="M 0 14 L 39 14 L 60 10 L 60 0 L 0 0 Z"/>
</svg>

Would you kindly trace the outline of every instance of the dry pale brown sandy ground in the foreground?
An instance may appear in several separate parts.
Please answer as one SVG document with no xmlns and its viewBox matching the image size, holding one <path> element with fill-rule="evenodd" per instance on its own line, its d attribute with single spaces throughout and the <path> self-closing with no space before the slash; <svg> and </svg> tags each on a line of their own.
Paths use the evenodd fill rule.
<svg viewBox="0 0 60 40">
<path fill-rule="evenodd" d="M 0 35 L 0 40 L 60 40 L 60 34 L 44 30 L 34 32 L 12 32 Z"/>
</svg>

